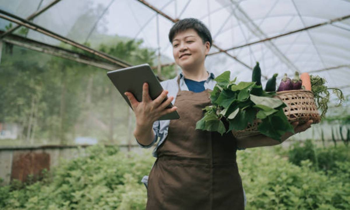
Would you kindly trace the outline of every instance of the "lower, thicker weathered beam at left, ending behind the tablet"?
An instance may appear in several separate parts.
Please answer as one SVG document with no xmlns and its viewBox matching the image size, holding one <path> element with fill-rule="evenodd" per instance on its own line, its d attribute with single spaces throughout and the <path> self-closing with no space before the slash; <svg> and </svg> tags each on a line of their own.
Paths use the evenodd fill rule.
<svg viewBox="0 0 350 210">
<path fill-rule="evenodd" d="M 113 63 L 109 63 L 109 62 L 105 62 L 105 61 L 96 59 L 96 58 L 88 56 L 88 55 L 83 55 L 83 54 L 80 54 L 77 52 L 73 52 L 71 50 L 67 50 L 67 49 L 64 49 L 61 47 L 56 47 L 56 46 L 45 44 L 42 42 L 30 40 L 28 38 L 18 36 L 18 35 L 10 34 L 7 37 L 5 37 L 2 41 L 17 45 L 19 47 L 24 47 L 24 48 L 27 48 L 30 50 L 43 52 L 45 54 L 58 56 L 58 57 L 69 59 L 69 60 L 76 61 L 79 63 L 92 65 L 92 66 L 95 66 L 95 67 L 98 67 L 101 69 L 106 69 L 109 71 L 116 70 L 116 69 L 123 67 L 120 65 L 116 65 Z"/>
</svg>

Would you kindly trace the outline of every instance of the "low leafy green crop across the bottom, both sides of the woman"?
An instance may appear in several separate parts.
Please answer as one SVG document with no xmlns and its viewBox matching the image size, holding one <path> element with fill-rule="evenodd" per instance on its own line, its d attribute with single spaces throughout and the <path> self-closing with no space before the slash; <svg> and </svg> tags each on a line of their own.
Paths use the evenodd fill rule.
<svg viewBox="0 0 350 210">
<path fill-rule="evenodd" d="M 333 155 L 346 154 L 345 147 L 339 148 L 328 149 Z M 350 208 L 349 159 L 337 157 L 336 167 L 324 173 L 315 171 L 309 159 L 294 165 L 281 156 L 286 153 L 281 148 L 237 152 L 247 210 Z M 322 151 L 317 154 L 329 159 Z M 115 147 L 93 146 L 85 156 L 63 163 L 40 182 L 0 187 L 0 208 L 145 209 L 147 192 L 140 180 L 153 162 L 150 152 L 127 154 Z"/>
</svg>

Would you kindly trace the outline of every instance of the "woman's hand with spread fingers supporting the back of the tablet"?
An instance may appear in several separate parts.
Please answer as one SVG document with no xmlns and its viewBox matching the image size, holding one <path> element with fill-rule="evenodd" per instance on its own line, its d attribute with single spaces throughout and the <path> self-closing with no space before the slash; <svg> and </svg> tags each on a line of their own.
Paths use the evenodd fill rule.
<svg viewBox="0 0 350 210">
<path fill-rule="evenodd" d="M 128 97 L 131 107 L 136 116 L 136 126 L 141 130 L 142 128 L 149 128 L 153 126 L 153 123 L 165 114 L 174 112 L 177 107 L 173 106 L 170 109 L 166 107 L 173 101 L 174 97 L 170 96 L 165 102 L 163 100 L 167 97 L 168 91 L 163 92 L 154 100 L 149 96 L 148 84 L 144 83 L 142 88 L 142 101 L 134 97 L 131 92 L 125 92 L 124 94 Z"/>
</svg>

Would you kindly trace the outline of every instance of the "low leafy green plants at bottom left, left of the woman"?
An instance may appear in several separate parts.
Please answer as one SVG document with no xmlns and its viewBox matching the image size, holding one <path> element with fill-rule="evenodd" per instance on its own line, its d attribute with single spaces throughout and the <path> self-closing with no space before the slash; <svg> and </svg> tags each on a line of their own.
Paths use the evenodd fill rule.
<svg viewBox="0 0 350 210">
<path fill-rule="evenodd" d="M 140 180 L 154 161 L 147 156 L 90 147 L 86 156 L 63 163 L 44 181 L 13 190 L 1 187 L 0 208 L 144 209 L 146 188 Z"/>
</svg>

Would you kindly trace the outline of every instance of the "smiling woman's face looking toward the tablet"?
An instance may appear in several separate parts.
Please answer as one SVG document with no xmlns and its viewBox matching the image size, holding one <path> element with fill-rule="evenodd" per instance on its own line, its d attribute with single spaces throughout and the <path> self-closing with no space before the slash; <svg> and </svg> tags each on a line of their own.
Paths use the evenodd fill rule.
<svg viewBox="0 0 350 210">
<path fill-rule="evenodd" d="M 182 69 L 195 68 L 204 64 L 205 55 L 210 50 L 210 43 L 203 43 L 194 29 L 177 33 L 172 44 L 175 62 Z"/>
</svg>

